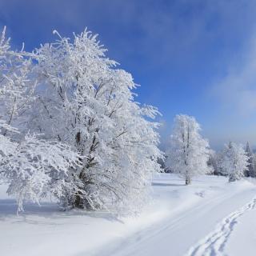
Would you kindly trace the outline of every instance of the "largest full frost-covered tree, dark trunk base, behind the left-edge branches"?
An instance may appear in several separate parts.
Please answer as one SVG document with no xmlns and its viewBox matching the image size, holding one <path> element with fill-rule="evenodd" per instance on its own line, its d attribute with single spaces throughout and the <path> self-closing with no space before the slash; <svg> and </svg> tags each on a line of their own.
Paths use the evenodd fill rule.
<svg viewBox="0 0 256 256">
<path fill-rule="evenodd" d="M 58 32 L 54 31 L 55 34 Z M 58 139 L 81 156 L 72 169 L 65 206 L 136 210 L 157 172 L 158 114 L 134 102 L 133 78 L 106 58 L 106 49 L 85 30 L 34 51 L 36 101 L 30 130 Z"/>
</svg>

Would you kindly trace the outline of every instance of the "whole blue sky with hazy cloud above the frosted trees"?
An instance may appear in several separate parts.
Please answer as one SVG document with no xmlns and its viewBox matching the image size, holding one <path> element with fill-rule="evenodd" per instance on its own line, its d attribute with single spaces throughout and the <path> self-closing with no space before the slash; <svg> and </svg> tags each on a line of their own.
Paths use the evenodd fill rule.
<svg viewBox="0 0 256 256">
<path fill-rule="evenodd" d="M 134 76 L 138 102 L 162 112 L 162 145 L 175 114 L 190 114 L 215 149 L 256 146 L 254 0 L 0 0 L 0 26 L 32 50 L 87 26 Z"/>
</svg>

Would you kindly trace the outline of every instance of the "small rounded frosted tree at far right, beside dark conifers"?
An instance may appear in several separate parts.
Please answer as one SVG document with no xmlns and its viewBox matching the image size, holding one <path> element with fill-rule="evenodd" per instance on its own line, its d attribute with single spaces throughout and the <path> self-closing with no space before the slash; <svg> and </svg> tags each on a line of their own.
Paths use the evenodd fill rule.
<svg viewBox="0 0 256 256">
<path fill-rule="evenodd" d="M 222 151 L 222 172 L 228 175 L 229 182 L 244 177 L 247 170 L 248 156 L 242 145 L 230 142 Z"/>
</svg>

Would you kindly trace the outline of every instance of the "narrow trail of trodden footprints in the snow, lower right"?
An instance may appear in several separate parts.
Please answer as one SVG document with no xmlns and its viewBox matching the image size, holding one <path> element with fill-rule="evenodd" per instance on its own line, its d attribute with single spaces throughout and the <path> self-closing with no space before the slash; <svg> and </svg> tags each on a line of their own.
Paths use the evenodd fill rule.
<svg viewBox="0 0 256 256">
<path fill-rule="evenodd" d="M 256 198 L 247 203 L 239 210 L 229 214 L 216 226 L 216 229 L 211 232 L 206 238 L 203 238 L 195 246 L 192 246 L 188 252 L 188 256 L 217 256 L 225 255 L 225 245 L 230 238 L 230 234 L 234 230 L 234 226 L 238 223 L 238 218 L 249 210 L 254 210 L 256 207 Z"/>
</svg>

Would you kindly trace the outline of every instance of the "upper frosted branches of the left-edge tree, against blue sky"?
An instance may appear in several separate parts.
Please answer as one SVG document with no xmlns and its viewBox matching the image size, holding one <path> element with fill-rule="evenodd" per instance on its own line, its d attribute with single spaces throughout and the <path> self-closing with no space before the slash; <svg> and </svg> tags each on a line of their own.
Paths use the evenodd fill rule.
<svg viewBox="0 0 256 256">
<path fill-rule="evenodd" d="M 34 100 L 36 79 L 30 78 L 31 58 L 26 58 L 23 49 L 11 50 L 10 39 L 5 34 L 6 28 L 0 39 L 0 114 L 7 125 L 21 128 Z M 2 130 L 2 134 L 6 133 L 7 130 Z"/>
</svg>

